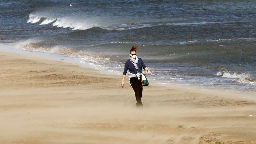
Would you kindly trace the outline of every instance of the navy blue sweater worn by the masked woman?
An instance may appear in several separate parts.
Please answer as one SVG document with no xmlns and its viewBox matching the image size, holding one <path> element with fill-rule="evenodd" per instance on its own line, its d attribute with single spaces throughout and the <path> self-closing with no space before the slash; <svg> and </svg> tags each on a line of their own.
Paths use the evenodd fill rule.
<svg viewBox="0 0 256 144">
<path fill-rule="evenodd" d="M 138 60 L 138 63 L 137 63 L 138 67 L 142 70 L 142 67 L 143 69 L 145 69 L 147 66 L 144 64 L 144 62 L 142 61 L 141 58 L 139 58 Z M 127 70 L 129 69 L 129 72 L 130 73 L 133 73 L 133 74 L 137 74 L 137 71 L 141 73 L 141 71 L 138 69 L 135 68 L 134 64 L 131 62 L 131 60 L 127 60 L 124 64 L 124 75 L 126 75 L 127 73 Z"/>
</svg>

